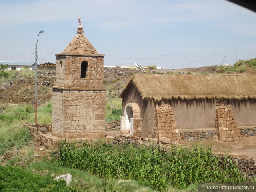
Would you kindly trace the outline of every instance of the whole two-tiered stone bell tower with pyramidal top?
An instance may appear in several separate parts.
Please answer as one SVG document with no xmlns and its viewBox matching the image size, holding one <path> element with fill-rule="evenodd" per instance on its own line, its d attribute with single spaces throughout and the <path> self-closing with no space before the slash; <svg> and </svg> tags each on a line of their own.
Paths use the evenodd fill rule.
<svg viewBox="0 0 256 192">
<path fill-rule="evenodd" d="M 56 86 L 52 89 L 52 134 L 59 138 L 105 137 L 106 88 L 104 54 L 84 36 L 83 26 L 56 54 Z"/>
</svg>

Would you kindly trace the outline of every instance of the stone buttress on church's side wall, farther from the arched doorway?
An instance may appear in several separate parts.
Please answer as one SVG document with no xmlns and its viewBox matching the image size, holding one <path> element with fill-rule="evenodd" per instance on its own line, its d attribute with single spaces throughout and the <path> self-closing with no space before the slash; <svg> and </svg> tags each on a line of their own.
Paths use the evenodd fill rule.
<svg viewBox="0 0 256 192">
<path fill-rule="evenodd" d="M 217 102 L 215 126 L 220 141 L 237 141 L 241 139 L 240 130 L 236 124 L 231 105 Z"/>
</svg>

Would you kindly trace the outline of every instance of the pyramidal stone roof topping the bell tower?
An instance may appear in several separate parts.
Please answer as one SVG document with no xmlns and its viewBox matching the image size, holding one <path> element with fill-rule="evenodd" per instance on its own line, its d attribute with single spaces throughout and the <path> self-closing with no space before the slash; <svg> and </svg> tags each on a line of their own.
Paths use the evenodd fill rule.
<svg viewBox="0 0 256 192">
<path fill-rule="evenodd" d="M 92 46 L 90 41 L 84 35 L 83 26 L 78 26 L 78 31 L 76 36 L 72 39 L 72 41 L 68 44 L 68 46 L 64 49 L 62 54 L 82 54 L 82 55 L 90 55 L 90 54 L 98 54 L 96 49 Z"/>
</svg>

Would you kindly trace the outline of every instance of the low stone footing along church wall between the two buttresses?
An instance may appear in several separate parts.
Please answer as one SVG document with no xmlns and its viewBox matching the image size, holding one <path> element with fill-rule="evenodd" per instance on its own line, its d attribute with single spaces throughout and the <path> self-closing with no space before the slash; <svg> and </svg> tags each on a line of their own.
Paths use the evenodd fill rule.
<svg viewBox="0 0 256 192">
<path fill-rule="evenodd" d="M 188 131 L 180 132 L 180 137 L 182 140 L 206 140 L 217 138 L 217 130 L 213 131 Z"/>
</svg>

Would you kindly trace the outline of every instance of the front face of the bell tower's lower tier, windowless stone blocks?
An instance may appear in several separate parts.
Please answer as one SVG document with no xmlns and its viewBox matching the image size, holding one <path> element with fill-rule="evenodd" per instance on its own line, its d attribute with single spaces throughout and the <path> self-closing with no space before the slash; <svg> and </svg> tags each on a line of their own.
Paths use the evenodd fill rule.
<svg viewBox="0 0 256 192">
<path fill-rule="evenodd" d="M 106 91 L 64 90 L 62 138 L 105 137 Z"/>
</svg>

